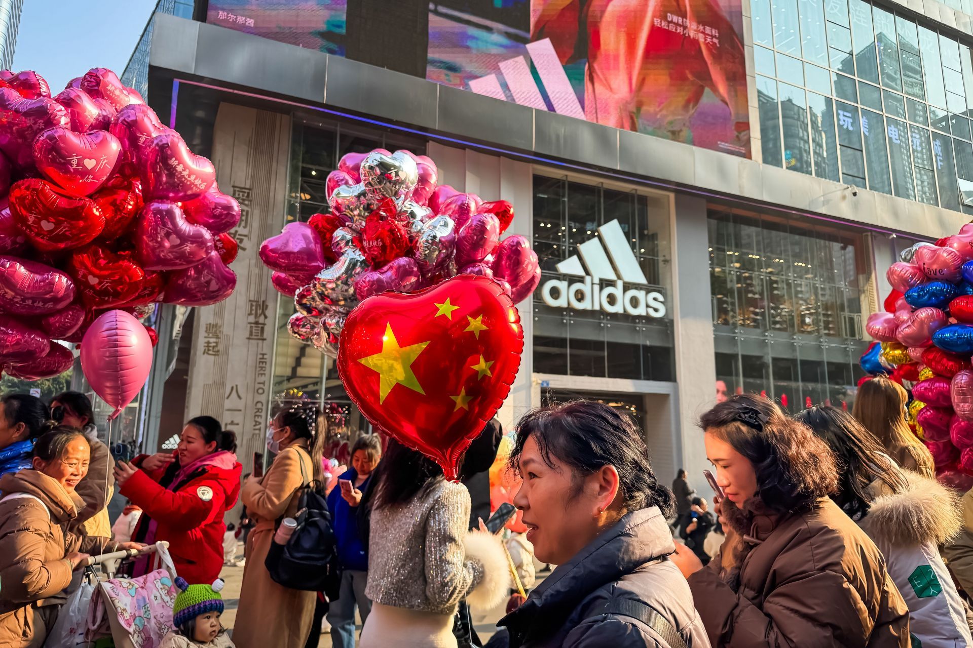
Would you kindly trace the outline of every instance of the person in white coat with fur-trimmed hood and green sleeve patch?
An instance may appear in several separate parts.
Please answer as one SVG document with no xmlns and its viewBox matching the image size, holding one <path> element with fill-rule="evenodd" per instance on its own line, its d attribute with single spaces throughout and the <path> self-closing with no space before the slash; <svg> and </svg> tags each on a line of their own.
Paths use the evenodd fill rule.
<svg viewBox="0 0 973 648">
<path fill-rule="evenodd" d="M 899 469 L 847 412 L 812 407 L 794 418 L 838 459 L 838 491 L 831 498 L 882 551 L 919 645 L 973 646 L 962 599 L 939 556 L 939 545 L 961 524 L 956 496 L 934 479 Z"/>
</svg>

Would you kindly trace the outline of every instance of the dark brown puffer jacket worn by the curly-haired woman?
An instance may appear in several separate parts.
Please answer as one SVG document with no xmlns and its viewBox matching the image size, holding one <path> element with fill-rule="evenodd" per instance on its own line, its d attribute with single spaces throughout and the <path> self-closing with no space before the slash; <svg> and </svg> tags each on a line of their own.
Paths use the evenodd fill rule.
<svg viewBox="0 0 973 648">
<path fill-rule="evenodd" d="M 713 646 L 909 647 L 909 610 L 882 554 L 830 499 L 776 522 L 758 515 L 745 537 L 739 592 L 719 560 L 689 577 Z"/>
</svg>

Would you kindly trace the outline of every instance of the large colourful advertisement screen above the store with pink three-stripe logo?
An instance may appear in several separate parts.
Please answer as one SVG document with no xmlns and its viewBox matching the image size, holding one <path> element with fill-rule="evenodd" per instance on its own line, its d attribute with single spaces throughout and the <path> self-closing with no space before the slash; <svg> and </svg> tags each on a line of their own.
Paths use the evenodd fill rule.
<svg viewBox="0 0 973 648">
<path fill-rule="evenodd" d="M 210 0 L 207 22 L 750 155 L 740 0 Z"/>
</svg>

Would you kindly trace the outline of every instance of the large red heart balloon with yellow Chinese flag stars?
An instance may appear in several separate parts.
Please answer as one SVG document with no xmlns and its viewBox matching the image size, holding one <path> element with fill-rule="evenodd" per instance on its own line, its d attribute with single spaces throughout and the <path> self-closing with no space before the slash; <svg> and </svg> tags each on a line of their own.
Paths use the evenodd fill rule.
<svg viewBox="0 0 973 648">
<path fill-rule="evenodd" d="M 347 316 L 338 352 L 362 414 L 457 478 L 457 462 L 510 392 L 523 352 L 520 314 L 485 277 L 385 292 Z"/>
</svg>

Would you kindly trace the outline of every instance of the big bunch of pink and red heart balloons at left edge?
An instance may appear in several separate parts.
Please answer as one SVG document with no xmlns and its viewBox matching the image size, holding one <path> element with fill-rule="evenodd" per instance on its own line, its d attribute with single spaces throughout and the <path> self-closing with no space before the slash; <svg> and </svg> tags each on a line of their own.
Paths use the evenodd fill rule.
<svg viewBox="0 0 973 648">
<path fill-rule="evenodd" d="M 81 342 L 110 309 L 225 299 L 240 213 L 215 177 L 111 70 L 54 96 L 36 72 L 0 71 L 2 370 L 66 370 L 54 340 Z"/>
</svg>

